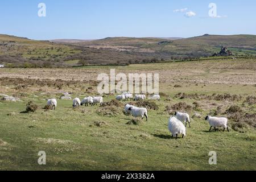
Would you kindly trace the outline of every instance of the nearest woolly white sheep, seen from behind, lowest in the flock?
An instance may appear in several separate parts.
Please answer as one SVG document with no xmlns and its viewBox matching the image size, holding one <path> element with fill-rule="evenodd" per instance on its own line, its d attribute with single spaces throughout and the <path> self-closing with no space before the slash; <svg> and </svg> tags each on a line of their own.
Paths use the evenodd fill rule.
<svg viewBox="0 0 256 182">
<path fill-rule="evenodd" d="M 185 126 L 176 117 L 171 117 L 169 119 L 168 129 L 171 132 L 172 137 L 174 137 L 174 135 L 176 135 L 176 139 L 177 139 L 178 134 L 182 134 L 182 138 L 186 135 Z"/>
</svg>

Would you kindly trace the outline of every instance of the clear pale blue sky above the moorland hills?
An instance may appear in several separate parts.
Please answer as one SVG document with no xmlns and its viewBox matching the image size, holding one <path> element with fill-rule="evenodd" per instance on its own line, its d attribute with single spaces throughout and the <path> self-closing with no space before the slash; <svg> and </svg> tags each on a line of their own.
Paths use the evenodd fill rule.
<svg viewBox="0 0 256 182">
<path fill-rule="evenodd" d="M 40 2 L 46 17 L 38 16 Z M 219 18 L 208 15 L 212 2 Z M 256 35 L 255 7 L 254 0 L 1 0 L 0 34 L 37 40 Z"/>
</svg>

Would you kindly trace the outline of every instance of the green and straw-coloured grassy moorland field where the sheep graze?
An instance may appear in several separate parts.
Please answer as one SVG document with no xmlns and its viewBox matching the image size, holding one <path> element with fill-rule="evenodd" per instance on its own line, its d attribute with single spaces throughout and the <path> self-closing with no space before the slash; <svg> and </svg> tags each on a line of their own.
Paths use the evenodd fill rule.
<svg viewBox="0 0 256 182">
<path fill-rule="evenodd" d="M 159 73 L 162 100 L 158 110 L 148 110 L 148 122 L 127 125 L 133 117 L 122 106 L 72 109 L 72 101 L 58 100 L 56 110 L 41 109 L 46 99 L 72 92 L 72 98 L 96 95 L 98 73 Z M 5 78 L 3 78 L 5 77 Z M 256 132 L 254 124 L 242 123 L 239 130 L 229 119 L 231 131 L 209 132 L 204 117 L 226 114 L 232 105 L 239 114 L 255 114 L 256 60 L 207 60 L 176 63 L 139 64 L 127 67 L 84 67 L 70 69 L 1 69 L 0 94 L 22 101 L 0 101 L 0 169 L 8 170 L 255 170 Z M 7 79 L 8 78 L 8 79 Z M 19 78 L 19 79 L 18 79 Z M 13 79 L 13 80 L 12 80 Z M 22 79 L 22 80 L 20 80 Z M 49 80 L 48 80 L 49 79 Z M 56 79 L 63 85 L 57 87 Z M 36 82 L 41 80 L 42 82 Z M 51 82 L 52 81 L 52 82 Z M 47 82 L 44 85 L 43 82 Z M 72 83 L 75 82 L 75 83 Z M 17 85 L 24 85 L 22 88 Z M 92 92 L 86 91 L 92 86 Z M 189 95 L 181 99 L 178 93 Z M 213 94 L 236 95 L 218 99 Z M 193 94 L 198 94 L 197 97 Z M 203 98 L 203 94 L 205 97 Z M 241 96 L 238 97 L 238 96 Z M 238 98 L 239 99 L 238 99 Z M 105 95 L 104 101 L 115 96 Z M 35 113 L 20 113 L 28 101 L 40 106 Z M 184 139 L 171 137 L 168 119 L 174 106 L 185 102 L 193 118 Z M 195 102 L 199 106 L 195 106 Z M 106 110 L 104 110 L 106 109 Z M 182 110 L 182 109 L 181 109 Z M 102 114 L 106 111 L 106 115 Z M 47 164 L 38 164 L 38 152 L 46 151 Z M 208 153 L 217 152 L 217 165 L 209 165 Z"/>
</svg>

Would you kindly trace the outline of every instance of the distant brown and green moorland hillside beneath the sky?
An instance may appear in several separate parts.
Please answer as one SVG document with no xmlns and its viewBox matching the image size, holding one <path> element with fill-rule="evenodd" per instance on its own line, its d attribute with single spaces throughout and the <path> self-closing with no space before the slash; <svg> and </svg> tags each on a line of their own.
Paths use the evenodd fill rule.
<svg viewBox="0 0 256 182">
<path fill-rule="evenodd" d="M 256 56 L 256 35 L 205 34 L 187 39 L 115 37 L 51 42 L 0 35 L 0 63 L 7 67 L 152 63 L 212 56 L 221 46 L 228 47 L 235 56 Z"/>
</svg>

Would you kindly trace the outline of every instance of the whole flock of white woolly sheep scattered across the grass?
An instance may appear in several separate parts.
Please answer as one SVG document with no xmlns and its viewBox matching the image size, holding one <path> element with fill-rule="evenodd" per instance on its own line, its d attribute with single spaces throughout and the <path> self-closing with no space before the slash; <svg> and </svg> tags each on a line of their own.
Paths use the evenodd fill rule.
<svg viewBox="0 0 256 182">
<path fill-rule="evenodd" d="M 146 100 L 146 96 L 144 94 L 136 94 L 133 97 L 133 94 L 129 92 L 125 92 L 125 93 L 122 93 L 121 95 L 116 96 L 115 99 L 118 101 L 127 101 L 129 99 L 134 101 L 143 101 L 143 100 Z M 149 99 L 160 101 L 160 96 L 159 95 L 150 96 Z M 102 97 L 85 97 L 82 101 L 80 101 L 79 98 L 75 98 L 73 100 L 73 107 L 79 107 L 80 105 L 81 106 L 82 105 L 93 106 L 97 104 L 102 105 L 102 103 L 103 103 Z M 49 99 L 47 101 L 47 105 L 52 109 L 55 109 L 57 107 L 57 100 L 55 98 Z M 147 109 L 144 107 L 136 107 L 133 105 L 126 104 L 125 113 L 127 115 L 131 114 L 135 118 L 141 117 L 143 119 L 144 117 L 146 117 L 146 121 L 148 120 Z M 211 117 L 207 115 L 207 117 L 205 117 L 205 120 L 209 122 L 210 130 L 212 129 L 212 127 L 214 127 L 215 131 L 216 131 L 216 127 L 223 127 L 224 128 L 223 131 L 225 131 L 225 129 L 229 131 L 227 118 Z M 182 135 L 182 138 L 183 138 L 186 135 L 187 122 L 189 124 L 189 127 L 191 127 L 189 114 L 176 111 L 174 116 L 172 116 L 168 122 L 168 129 L 170 130 L 172 137 L 176 137 L 177 139 L 178 134 L 180 134 Z M 185 123 L 185 125 L 183 123 Z"/>
</svg>

